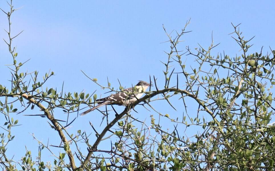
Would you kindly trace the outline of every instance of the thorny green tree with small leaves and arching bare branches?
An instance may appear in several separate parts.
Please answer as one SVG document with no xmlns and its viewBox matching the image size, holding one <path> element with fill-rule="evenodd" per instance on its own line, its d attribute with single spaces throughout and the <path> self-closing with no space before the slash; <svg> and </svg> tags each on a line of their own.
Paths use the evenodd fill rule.
<svg viewBox="0 0 275 171">
<path fill-rule="evenodd" d="M 58 88 L 45 88 L 43 85 L 54 73 L 46 73 L 43 78 L 38 72 L 21 72 L 25 62 L 17 62 L 17 53 L 12 46 L 11 15 L 15 11 L 12 1 L 11 11 L 3 11 L 9 21 L 7 30 L 9 40 L 5 40 L 11 54 L 10 66 L 12 86 L 0 85 L 1 147 L 0 166 L 3 170 L 274 170 L 274 123 L 270 124 L 274 114 L 271 103 L 274 81 L 275 51 L 263 55 L 262 52 L 250 54 L 250 40 L 244 39 L 234 26 L 232 33 L 239 44 L 242 54 L 229 57 L 225 54 L 212 55 L 217 46 L 213 43 L 208 49 L 196 48 L 195 52 L 187 46 L 185 53 L 178 48 L 181 38 L 187 32 L 185 27 L 180 33 L 165 33 L 170 44 L 167 62 L 163 62 L 164 85 L 153 77 L 155 89 L 145 92 L 138 101 L 126 106 L 117 113 L 98 110 L 107 119 L 104 129 L 91 123 L 92 135 L 85 130 L 70 132 L 66 129 L 73 125 L 77 112 L 85 106 L 93 106 L 97 96 L 77 93 L 57 93 Z M 190 33 L 189 33 L 190 34 Z M 186 67 L 185 58 L 195 59 L 197 66 Z M 170 68 L 174 62 L 175 68 Z M 160 71 L 161 72 L 161 71 Z M 177 73 L 176 73 L 177 72 Z M 223 74 L 227 73 L 227 75 Z M 29 81 L 30 79 L 31 81 Z M 91 79 L 97 83 L 97 79 Z M 1 80 L 3 81 L 3 80 Z M 151 80 L 150 80 L 151 81 Z M 185 82 L 184 85 L 180 84 Z M 164 86 L 164 89 L 159 88 Z M 101 86 L 103 89 L 114 88 Z M 180 87 L 183 87 L 181 89 Z M 8 90 L 10 89 L 10 91 Z M 123 87 L 120 86 L 120 91 Z M 167 101 L 174 107 L 175 99 L 185 108 L 177 116 L 163 115 L 152 106 L 151 101 Z M 187 108 L 186 101 L 193 101 L 196 108 Z M 20 103 L 17 103 L 20 102 Z M 142 104 L 151 109 L 151 122 L 139 121 L 131 111 Z M 39 151 L 34 159 L 27 150 L 20 161 L 6 156 L 10 141 L 19 141 L 13 136 L 15 113 L 23 113 L 28 107 L 38 107 L 39 115 L 44 117 L 49 127 L 56 131 L 62 144 L 49 146 L 38 141 Z M 67 113 L 61 122 L 54 111 L 62 109 Z M 190 113 L 197 113 L 197 116 Z M 156 117 L 156 116 L 159 117 Z M 205 119 L 205 116 L 208 116 Z M 210 117 L 210 119 L 209 119 Z M 4 119 L 2 119 L 4 118 Z M 57 119 L 58 118 L 58 119 Z M 166 129 L 160 120 L 170 121 L 174 129 Z M 21 123 L 24 124 L 24 123 Z M 201 133 L 187 137 L 182 130 L 198 129 Z M 154 136 L 153 136 L 154 135 Z M 110 139 L 109 147 L 102 147 L 102 141 Z M 90 140 L 90 141 L 89 141 Z M 42 150 L 60 148 L 59 154 L 53 154 L 53 163 L 43 162 Z M 85 147 L 85 148 L 80 148 Z M 74 149 L 74 150 L 72 150 Z M 69 160 L 66 160 L 67 157 Z"/>
</svg>

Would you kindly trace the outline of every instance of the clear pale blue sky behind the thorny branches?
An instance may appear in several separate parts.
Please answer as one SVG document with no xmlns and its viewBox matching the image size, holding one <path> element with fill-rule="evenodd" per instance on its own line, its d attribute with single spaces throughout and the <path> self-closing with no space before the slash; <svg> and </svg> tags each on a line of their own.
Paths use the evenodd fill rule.
<svg viewBox="0 0 275 171">
<path fill-rule="evenodd" d="M 58 87 L 60 91 L 64 81 L 66 92 L 84 90 L 91 94 L 97 90 L 98 97 L 100 94 L 105 96 L 103 93 L 106 91 L 84 76 L 81 70 L 91 78 L 97 78 L 103 86 L 107 86 L 108 76 L 111 87 L 115 89 L 119 87 L 118 79 L 122 86 L 131 87 L 138 80 L 149 82 L 149 75 L 155 75 L 159 79 L 159 87 L 163 88 L 162 70 L 165 68 L 160 61 L 166 62 L 167 54 L 164 51 L 170 51 L 169 43 L 161 43 L 168 40 L 163 25 L 167 32 L 181 31 L 190 18 L 191 23 L 186 31 L 192 32 L 182 37 L 182 50 L 185 50 L 185 46 L 195 49 L 199 47 L 198 43 L 208 48 L 213 32 L 214 44 L 220 43 L 213 52 L 236 56 L 240 47 L 231 38 L 232 35 L 228 35 L 234 31 L 231 22 L 234 25 L 242 23 L 240 30 L 245 38 L 255 36 L 251 40 L 254 45 L 249 53 L 260 52 L 262 46 L 264 54 L 270 52 L 269 46 L 275 49 L 274 1 L 14 0 L 13 5 L 14 8 L 22 8 L 11 17 L 11 34 L 16 35 L 24 30 L 13 41 L 13 46 L 17 46 L 17 61 L 31 59 L 21 71 L 37 70 L 41 80 L 46 72 L 53 71 L 55 76 L 48 80 L 47 86 Z M 3 0 L 0 1 L 0 7 L 4 11 L 9 10 L 7 2 Z M 7 39 L 4 29 L 8 29 L 8 21 L 1 12 L 0 37 Z M 5 64 L 13 61 L 3 40 L 0 40 L 0 59 L 0 72 L 4 73 L 0 76 L 0 84 L 8 86 L 10 83 L 7 80 L 11 79 L 11 74 Z M 165 104 L 167 111 L 171 111 L 166 103 L 159 104 Z M 24 114 L 34 114 L 34 111 L 27 110 Z M 41 113 L 38 109 L 35 112 Z M 87 119 L 97 118 L 100 122 L 101 115 L 97 114 L 95 116 L 95 113 L 91 113 L 91 119 L 87 115 L 77 119 L 72 129 L 91 129 Z M 144 118 L 149 121 L 151 114 L 156 115 L 145 113 Z M 24 155 L 25 144 L 33 155 L 37 155 L 35 150 L 38 143 L 30 134 L 34 133 L 44 143 L 57 134 L 49 128 L 46 119 L 19 115 L 14 117 L 19 118 L 19 124 L 23 124 L 15 128 L 16 138 L 22 138 L 22 144 L 18 144 L 18 149 L 8 146 L 10 155 L 14 151 L 20 154 L 15 156 L 15 160 Z M 82 124 L 87 127 L 80 127 Z M 43 135 L 39 135 L 42 128 Z M 12 143 L 17 143 L 17 140 Z M 50 144 L 58 143 L 59 139 L 50 139 Z"/>
</svg>

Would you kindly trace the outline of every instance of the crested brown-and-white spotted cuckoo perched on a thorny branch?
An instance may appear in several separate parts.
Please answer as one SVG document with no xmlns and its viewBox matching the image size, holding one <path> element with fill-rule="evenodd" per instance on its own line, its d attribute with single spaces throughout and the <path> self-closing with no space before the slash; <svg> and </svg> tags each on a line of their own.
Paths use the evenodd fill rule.
<svg viewBox="0 0 275 171">
<path fill-rule="evenodd" d="M 86 115 L 87 113 L 104 105 L 114 104 L 119 106 L 121 105 L 127 106 L 129 103 L 133 103 L 134 101 L 137 101 L 149 86 L 150 86 L 149 83 L 145 81 L 139 81 L 138 84 L 134 87 L 126 88 L 123 91 L 120 91 L 116 94 L 110 95 L 102 99 L 97 99 L 96 101 L 100 101 L 98 102 L 98 105 L 81 113 L 80 116 Z M 153 85 L 151 84 L 151 86 Z"/>
</svg>

